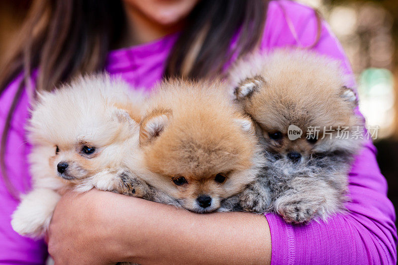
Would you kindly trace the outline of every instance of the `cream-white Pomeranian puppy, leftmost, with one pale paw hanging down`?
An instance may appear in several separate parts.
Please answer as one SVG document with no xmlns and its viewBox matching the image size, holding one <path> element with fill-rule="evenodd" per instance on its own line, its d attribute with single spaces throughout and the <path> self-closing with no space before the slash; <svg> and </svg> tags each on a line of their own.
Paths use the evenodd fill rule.
<svg viewBox="0 0 398 265">
<path fill-rule="evenodd" d="M 119 80 L 98 75 L 38 94 L 27 127 L 33 189 L 12 215 L 17 233 L 41 237 L 66 189 L 96 186 L 141 197 L 148 193 L 149 187 L 131 178 L 131 171 L 128 181 L 120 181 L 124 158 L 133 157 L 138 148 L 145 97 L 130 90 Z"/>
</svg>

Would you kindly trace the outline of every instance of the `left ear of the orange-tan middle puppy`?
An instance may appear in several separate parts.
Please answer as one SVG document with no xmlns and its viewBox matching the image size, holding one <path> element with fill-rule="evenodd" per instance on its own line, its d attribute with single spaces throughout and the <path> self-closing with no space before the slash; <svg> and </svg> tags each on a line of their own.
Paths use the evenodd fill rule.
<svg viewBox="0 0 398 265">
<path fill-rule="evenodd" d="M 155 140 L 169 123 L 171 111 L 155 110 L 147 115 L 140 124 L 140 144 L 145 145 Z"/>
</svg>

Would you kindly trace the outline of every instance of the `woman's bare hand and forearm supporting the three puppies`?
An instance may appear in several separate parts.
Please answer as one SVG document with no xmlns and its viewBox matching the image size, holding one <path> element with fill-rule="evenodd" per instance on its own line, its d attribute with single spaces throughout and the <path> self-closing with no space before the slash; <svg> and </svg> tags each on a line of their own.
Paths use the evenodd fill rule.
<svg viewBox="0 0 398 265">
<path fill-rule="evenodd" d="M 195 214 L 134 197 L 68 192 L 48 233 L 56 264 L 269 264 L 263 215 Z"/>
</svg>

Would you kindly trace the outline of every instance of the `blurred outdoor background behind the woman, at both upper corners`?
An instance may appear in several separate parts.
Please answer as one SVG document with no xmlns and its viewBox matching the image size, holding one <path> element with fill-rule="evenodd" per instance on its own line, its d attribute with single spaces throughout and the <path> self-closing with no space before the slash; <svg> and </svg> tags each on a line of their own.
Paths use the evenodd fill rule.
<svg viewBox="0 0 398 265">
<path fill-rule="evenodd" d="M 357 78 L 367 124 L 380 127 L 378 162 L 398 205 L 398 0 L 298 0 L 319 10 L 342 43 Z M 0 0 L 0 60 L 31 0 Z"/>
</svg>

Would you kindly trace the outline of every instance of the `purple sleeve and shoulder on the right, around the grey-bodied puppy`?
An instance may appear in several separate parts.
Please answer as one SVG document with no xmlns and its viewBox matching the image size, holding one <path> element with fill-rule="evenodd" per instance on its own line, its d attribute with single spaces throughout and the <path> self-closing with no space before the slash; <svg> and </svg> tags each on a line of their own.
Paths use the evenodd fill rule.
<svg viewBox="0 0 398 265">
<path fill-rule="evenodd" d="M 291 1 L 272 1 L 261 48 L 308 47 L 316 32 L 312 9 Z M 352 73 L 340 43 L 325 22 L 312 50 L 342 61 L 346 72 Z M 327 222 L 291 225 L 277 214 L 266 214 L 272 239 L 271 264 L 396 264 L 395 210 L 387 198 L 387 182 L 371 141 L 366 142 L 349 173 L 349 196 L 349 213 L 335 215 Z"/>
</svg>

